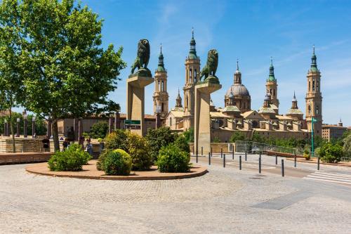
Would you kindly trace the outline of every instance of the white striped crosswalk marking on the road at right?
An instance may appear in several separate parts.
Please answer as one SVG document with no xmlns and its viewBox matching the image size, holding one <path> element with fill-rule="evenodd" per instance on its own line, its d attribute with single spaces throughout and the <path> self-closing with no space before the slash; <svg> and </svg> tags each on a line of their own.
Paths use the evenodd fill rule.
<svg viewBox="0 0 351 234">
<path fill-rule="evenodd" d="M 329 173 L 326 171 L 314 171 L 312 174 L 305 176 L 305 179 L 313 181 L 325 181 L 330 183 L 341 183 L 351 185 L 351 174 Z"/>
</svg>

